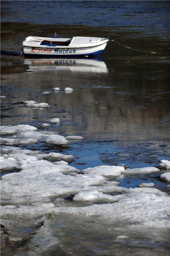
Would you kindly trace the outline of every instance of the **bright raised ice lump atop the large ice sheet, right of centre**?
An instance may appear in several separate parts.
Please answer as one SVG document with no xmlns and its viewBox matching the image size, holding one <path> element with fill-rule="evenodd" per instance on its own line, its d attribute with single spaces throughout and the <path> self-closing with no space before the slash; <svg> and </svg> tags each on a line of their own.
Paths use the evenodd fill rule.
<svg viewBox="0 0 170 256">
<path fill-rule="evenodd" d="M 103 194 L 97 190 L 92 191 L 81 191 L 73 197 L 73 201 L 106 201 L 106 202 L 117 202 L 119 196 L 110 196 Z"/>
</svg>

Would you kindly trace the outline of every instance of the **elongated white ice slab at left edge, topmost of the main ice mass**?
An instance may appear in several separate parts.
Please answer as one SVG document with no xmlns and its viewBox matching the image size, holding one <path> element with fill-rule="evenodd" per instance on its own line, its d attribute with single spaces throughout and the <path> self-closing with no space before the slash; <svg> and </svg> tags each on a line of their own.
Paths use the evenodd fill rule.
<svg viewBox="0 0 170 256">
<path fill-rule="evenodd" d="M 26 131 L 37 131 L 37 128 L 29 124 L 19 124 L 14 126 L 1 126 L 1 134 L 15 134 Z"/>
</svg>

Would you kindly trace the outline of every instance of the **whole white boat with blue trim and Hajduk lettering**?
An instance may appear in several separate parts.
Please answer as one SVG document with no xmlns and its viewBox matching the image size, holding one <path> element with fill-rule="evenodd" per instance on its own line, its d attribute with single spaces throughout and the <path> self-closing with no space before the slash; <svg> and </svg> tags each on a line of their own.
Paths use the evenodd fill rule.
<svg viewBox="0 0 170 256">
<path fill-rule="evenodd" d="M 108 38 L 87 36 L 72 38 L 28 36 L 22 45 L 25 55 L 74 57 L 99 55 L 108 41 Z"/>
</svg>

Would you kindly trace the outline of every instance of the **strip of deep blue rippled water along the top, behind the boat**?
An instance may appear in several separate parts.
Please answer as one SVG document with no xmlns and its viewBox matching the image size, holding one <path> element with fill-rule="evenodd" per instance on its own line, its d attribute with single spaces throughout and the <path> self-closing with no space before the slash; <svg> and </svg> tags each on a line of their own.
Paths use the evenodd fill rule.
<svg viewBox="0 0 170 256">
<path fill-rule="evenodd" d="M 106 26 L 167 37 L 169 1 L 1 1 L 1 21 Z"/>
</svg>

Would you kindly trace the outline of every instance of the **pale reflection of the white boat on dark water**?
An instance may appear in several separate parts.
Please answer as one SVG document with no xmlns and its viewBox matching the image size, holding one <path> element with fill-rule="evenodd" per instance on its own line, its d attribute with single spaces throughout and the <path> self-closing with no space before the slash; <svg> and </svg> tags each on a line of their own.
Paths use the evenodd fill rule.
<svg viewBox="0 0 170 256">
<path fill-rule="evenodd" d="M 24 59 L 33 70 L 65 70 L 72 72 L 107 73 L 108 69 L 101 58 L 95 59 Z"/>
</svg>

